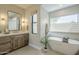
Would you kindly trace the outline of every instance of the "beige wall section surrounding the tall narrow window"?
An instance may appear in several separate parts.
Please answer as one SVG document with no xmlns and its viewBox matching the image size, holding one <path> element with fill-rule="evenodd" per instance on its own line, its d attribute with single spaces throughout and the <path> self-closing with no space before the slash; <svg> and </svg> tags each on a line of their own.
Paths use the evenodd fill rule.
<svg viewBox="0 0 79 59">
<path fill-rule="evenodd" d="M 37 11 L 38 14 L 38 23 L 37 23 L 37 34 L 32 34 L 32 19 L 31 16 Z M 29 25 L 29 45 L 40 49 L 40 6 L 39 5 L 32 5 L 26 10 L 26 19 L 28 19 Z"/>
</svg>

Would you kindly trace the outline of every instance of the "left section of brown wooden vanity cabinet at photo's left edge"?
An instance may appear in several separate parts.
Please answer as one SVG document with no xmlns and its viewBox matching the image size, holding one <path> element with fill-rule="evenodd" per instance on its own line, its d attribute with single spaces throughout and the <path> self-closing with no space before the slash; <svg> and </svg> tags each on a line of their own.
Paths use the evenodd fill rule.
<svg viewBox="0 0 79 59">
<path fill-rule="evenodd" d="M 12 50 L 12 41 L 8 36 L 0 37 L 0 54 L 8 53 Z"/>
</svg>

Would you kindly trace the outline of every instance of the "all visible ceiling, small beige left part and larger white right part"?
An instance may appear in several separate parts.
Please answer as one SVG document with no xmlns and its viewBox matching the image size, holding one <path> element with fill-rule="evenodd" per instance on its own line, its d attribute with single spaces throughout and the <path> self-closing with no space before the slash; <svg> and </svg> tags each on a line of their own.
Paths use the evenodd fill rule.
<svg viewBox="0 0 79 59">
<path fill-rule="evenodd" d="M 28 7 L 32 6 L 33 4 L 16 4 L 17 6 L 27 9 Z M 74 4 L 42 4 L 41 6 L 47 10 L 47 12 L 55 11 L 61 8 L 69 7 Z"/>
</svg>

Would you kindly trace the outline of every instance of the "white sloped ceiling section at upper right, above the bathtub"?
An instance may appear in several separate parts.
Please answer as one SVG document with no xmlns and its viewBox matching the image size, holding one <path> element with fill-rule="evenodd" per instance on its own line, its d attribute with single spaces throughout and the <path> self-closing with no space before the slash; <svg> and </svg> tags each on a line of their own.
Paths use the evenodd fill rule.
<svg viewBox="0 0 79 59">
<path fill-rule="evenodd" d="M 47 10 L 47 12 L 55 11 L 61 8 L 69 7 L 74 4 L 42 4 L 42 7 Z"/>
</svg>

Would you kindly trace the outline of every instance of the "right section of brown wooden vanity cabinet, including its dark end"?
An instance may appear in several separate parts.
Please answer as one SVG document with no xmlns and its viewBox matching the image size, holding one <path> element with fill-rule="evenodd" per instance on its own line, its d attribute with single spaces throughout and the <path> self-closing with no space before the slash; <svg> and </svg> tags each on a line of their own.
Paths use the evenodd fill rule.
<svg viewBox="0 0 79 59">
<path fill-rule="evenodd" d="M 28 44 L 28 34 L 16 35 L 13 36 L 13 49 L 21 48 Z"/>
</svg>

